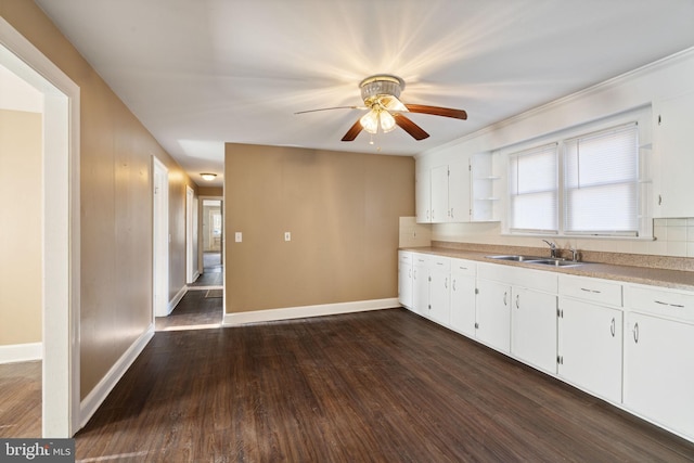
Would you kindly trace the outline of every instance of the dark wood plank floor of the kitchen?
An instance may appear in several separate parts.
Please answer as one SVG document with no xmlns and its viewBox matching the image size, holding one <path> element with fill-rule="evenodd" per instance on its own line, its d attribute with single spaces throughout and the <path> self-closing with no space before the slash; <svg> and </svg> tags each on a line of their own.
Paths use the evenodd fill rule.
<svg viewBox="0 0 694 463">
<path fill-rule="evenodd" d="M 694 461 L 402 309 L 157 332 L 76 439 L 78 460 L 133 462 Z"/>
</svg>

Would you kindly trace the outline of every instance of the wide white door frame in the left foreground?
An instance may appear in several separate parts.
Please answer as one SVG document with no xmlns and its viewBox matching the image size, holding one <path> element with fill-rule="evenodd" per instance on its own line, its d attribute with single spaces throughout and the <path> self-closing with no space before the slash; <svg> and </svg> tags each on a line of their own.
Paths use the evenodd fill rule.
<svg viewBox="0 0 694 463">
<path fill-rule="evenodd" d="M 0 63 L 44 97 L 41 434 L 72 437 L 81 426 L 80 89 L 2 17 Z"/>
</svg>

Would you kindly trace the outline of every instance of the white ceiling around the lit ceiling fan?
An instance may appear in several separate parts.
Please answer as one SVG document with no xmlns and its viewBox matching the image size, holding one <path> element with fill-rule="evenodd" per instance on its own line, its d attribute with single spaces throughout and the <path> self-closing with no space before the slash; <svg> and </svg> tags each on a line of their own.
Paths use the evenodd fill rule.
<svg viewBox="0 0 694 463">
<path fill-rule="evenodd" d="M 692 0 L 36 1 L 198 183 L 224 142 L 413 155 L 694 46 Z M 377 73 L 468 119 L 371 145 L 357 110 L 294 114 Z"/>
</svg>

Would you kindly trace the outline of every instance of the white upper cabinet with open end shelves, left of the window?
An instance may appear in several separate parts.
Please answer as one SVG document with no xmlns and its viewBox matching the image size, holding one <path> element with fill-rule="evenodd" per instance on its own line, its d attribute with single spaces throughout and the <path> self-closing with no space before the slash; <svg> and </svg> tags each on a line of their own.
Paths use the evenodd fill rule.
<svg viewBox="0 0 694 463">
<path fill-rule="evenodd" d="M 498 197 L 492 155 L 462 155 L 450 163 L 417 169 L 416 221 L 422 223 L 496 221 Z"/>
</svg>

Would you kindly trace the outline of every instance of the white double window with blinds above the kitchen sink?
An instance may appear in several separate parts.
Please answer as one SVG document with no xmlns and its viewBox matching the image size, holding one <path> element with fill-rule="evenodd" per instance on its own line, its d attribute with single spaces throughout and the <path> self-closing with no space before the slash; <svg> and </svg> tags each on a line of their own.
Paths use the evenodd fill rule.
<svg viewBox="0 0 694 463">
<path fill-rule="evenodd" d="M 625 113 L 612 118 L 609 128 L 602 120 L 549 136 L 542 145 L 511 152 L 506 230 L 648 236 L 637 123 L 648 116 L 644 111 Z"/>
</svg>

